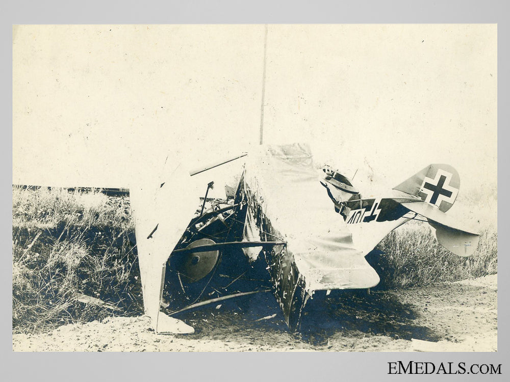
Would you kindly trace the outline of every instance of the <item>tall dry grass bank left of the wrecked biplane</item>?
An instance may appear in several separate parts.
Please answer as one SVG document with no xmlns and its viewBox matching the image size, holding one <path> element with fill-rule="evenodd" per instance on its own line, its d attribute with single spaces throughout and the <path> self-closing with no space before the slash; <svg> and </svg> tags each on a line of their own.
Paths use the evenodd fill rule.
<svg viewBox="0 0 510 382">
<path fill-rule="evenodd" d="M 15 186 L 12 238 L 14 332 L 143 311 L 129 198 Z"/>
</svg>

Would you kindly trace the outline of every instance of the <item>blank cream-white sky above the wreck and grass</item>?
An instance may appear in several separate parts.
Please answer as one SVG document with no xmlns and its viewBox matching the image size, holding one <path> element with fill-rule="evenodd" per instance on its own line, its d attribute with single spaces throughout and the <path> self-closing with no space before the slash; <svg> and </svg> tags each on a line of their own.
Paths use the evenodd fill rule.
<svg viewBox="0 0 510 382">
<path fill-rule="evenodd" d="M 259 142 L 264 25 L 20 25 L 13 182 L 125 187 Z M 264 142 L 396 185 L 496 185 L 495 24 L 269 25 Z M 224 156 L 224 155 L 223 155 Z"/>
</svg>

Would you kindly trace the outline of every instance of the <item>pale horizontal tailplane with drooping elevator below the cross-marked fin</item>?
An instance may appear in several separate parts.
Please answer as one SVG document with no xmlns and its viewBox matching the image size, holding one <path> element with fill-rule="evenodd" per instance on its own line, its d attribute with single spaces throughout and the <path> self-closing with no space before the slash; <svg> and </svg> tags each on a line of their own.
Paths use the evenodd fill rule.
<svg viewBox="0 0 510 382">
<path fill-rule="evenodd" d="M 427 218 L 428 223 L 435 231 L 436 239 L 448 251 L 457 256 L 471 256 L 478 246 L 479 235 L 458 228 L 456 222 L 425 202 L 402 203 L 402 205 Z"/>
</svg>

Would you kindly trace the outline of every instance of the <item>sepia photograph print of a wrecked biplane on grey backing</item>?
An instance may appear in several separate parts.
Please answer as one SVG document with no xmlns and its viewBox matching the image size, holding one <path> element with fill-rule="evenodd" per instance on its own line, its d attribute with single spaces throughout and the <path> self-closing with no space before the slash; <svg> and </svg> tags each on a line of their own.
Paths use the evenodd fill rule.
<svg viewBox="0 0 510 382">
<path fill-rule="evenodd" d="M 497 351 L 496 24 L 13 26 L 14 351 Z"/>
</svg>

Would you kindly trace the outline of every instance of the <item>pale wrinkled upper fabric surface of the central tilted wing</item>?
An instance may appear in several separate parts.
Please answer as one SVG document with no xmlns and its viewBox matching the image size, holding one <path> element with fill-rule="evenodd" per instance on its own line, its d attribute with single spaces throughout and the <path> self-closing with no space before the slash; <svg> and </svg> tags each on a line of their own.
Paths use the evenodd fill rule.
<svg viewBox="0 0 510 382">
<path fill-rule="evenodd" d="M 244 182 L 277 236 L 265 239 L 287 242 L 307 290 L 377 285 L 377 272 L 353 247 L 319 182 L 308 145 L 262 147 L 249 155 Z"/>
</svg>

